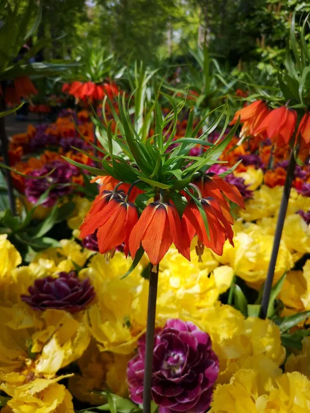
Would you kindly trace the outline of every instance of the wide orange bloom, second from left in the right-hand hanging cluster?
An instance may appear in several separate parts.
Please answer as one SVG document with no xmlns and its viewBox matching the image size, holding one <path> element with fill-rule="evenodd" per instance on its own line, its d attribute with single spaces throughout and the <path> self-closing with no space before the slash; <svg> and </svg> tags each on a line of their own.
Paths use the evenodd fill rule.
<svg viewBox="0 0 310 413">
<path fill-rule="evenodd" d="M 276 145 L 288 145 L 293 131 L 296 127 L 297 113 L 293 109 L 282 106 L 273 109 L 258 127 L 254 130 L 254 135 L 265 132 Z"/>
</svg>

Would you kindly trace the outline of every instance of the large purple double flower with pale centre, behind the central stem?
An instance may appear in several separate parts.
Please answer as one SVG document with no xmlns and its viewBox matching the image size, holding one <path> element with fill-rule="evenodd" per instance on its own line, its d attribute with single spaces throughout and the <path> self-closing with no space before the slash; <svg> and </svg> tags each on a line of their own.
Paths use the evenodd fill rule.
<svg viewBox="0 0 310 413">
<path fill-rule="evenodd" d="M 130 396 L 143 402 L 145 336 L 138 340 L 138 354 L 127 367 Z M 160 413 L 204 413 L 211 403 L 218 377 L 218 357 L 207 332 L 192 322 L 169 319 L 155 335 L 152 399 Z"/>
</svg>

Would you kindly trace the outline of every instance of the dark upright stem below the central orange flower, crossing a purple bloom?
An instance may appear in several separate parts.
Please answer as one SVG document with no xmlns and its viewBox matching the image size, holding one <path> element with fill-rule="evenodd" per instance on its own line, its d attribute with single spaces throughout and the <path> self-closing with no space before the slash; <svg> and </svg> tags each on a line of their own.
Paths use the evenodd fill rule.
<svg viewBox="0 0 310 413">
<path fill-rule="evenodd" d="M 158 265 L 156 271 L 149 274 L 149 299 L 147 303 L 147 331 L 145 342 L 145 361 L 143 377 L 143 413 L 151 413 L 151 389 L 152 389 L 152 370 L 153 352 L 155 335 L 156 299 L 158 284 Z"/>
</svg>

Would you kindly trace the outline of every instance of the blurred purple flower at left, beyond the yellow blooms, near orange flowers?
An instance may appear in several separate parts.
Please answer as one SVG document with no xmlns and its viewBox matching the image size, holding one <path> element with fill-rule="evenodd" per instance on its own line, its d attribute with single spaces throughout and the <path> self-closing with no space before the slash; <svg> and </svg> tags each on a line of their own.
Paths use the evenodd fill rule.
<svg viewBox="0 0 310 413">
<path fill-rule="evenodd" d="M 45 207 L 52 207 L 56 200 L 63 195 L 68 195 L 73 191 L 72 178 L 79 175 L 79 171 L 74 165 L 68 162 L 61 162 L 56 160 L 50 164 L 45 165 L 41 169 L 34 169 L 30 173 L 31 176 L 44 176 L 55 169 L 49 176 L 42 179 L 26 179 L 25 180 L 25 195 L 29 202 L 35 204 L 40 196 L 51 186 L 54 187 L 48 193 L 47 199 L 42 205 Z"/>
</svg>

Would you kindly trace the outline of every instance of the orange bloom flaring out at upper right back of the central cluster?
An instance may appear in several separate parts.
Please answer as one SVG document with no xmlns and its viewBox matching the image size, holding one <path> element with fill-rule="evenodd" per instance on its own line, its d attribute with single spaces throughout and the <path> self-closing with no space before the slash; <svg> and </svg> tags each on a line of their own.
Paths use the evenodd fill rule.
<svg viewBox="0 0 310 413">
<path fill-rule="evenodd" d="M 227 204 L 227 201 L 222 195 L 222 193 L 224 193 L 231 202 L 234 202 L 240 208 L 245 208 L 245 202 L 238 189 L 215 173 L 205 174 L 202 178 L 194 181 L 194 184 L 200 189 L 203 198 L 216 198 L 221 205 L 224 205 L 225 203 L 223 201 Z"/>
</svg>

